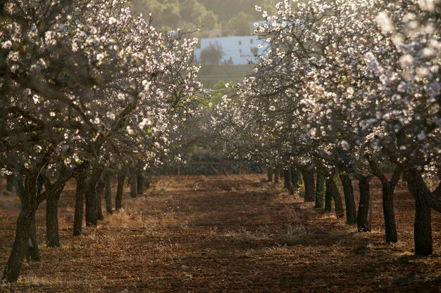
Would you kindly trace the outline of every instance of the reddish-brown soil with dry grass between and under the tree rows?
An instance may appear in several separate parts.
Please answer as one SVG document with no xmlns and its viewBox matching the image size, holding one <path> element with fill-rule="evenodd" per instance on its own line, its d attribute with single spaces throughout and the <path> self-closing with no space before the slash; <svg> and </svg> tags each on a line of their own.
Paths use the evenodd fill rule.
<svg viewBox="0 0 441 293">
<path fill-rule="evenodd" d="M 441 292 L 441 215 L 434 254 L 413 256 L 414 200 L 399 183 L 399 242 L 383 240 L 380 185 L 373 231 L 290 197 L 263 176 L 159 178 L 125 209 L 73 237 L 71 186 L 60 202 L 62 247 L 44 245 L 0 292 Z M 0 195 L 0 267 L 11 251 L 19 202 Z"/>
</svg>

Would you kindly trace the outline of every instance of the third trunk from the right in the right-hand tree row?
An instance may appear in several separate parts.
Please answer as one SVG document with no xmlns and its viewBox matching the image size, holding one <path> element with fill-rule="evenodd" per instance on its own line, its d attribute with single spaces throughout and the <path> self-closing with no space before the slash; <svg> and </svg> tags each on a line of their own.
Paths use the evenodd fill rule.
<svg viewBox="0 0 441 293">
<path fill-rule="evenodd" d="M 360 202 L 356 216 L 356 226 L 359 232 L 370 232 L 372 230 L 372 221 L 369 219 L 369 211 L 371 211 L 369 181 L 371 181 L 371 176 L 359 176 Z"/>
</svg>

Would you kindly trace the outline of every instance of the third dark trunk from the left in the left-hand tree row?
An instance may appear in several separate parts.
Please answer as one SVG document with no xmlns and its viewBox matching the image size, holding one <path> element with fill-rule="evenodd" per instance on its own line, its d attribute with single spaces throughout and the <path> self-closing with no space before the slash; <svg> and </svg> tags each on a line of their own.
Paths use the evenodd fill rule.
<svg viewBox="0 0 441 293">
<path fill-rule="evenodd" d="M 60 247 L 58 233 L 58 200 L 59 193 L 53 193 L 46 198 L 46 241 L 48 247 Z"/>
</svg>

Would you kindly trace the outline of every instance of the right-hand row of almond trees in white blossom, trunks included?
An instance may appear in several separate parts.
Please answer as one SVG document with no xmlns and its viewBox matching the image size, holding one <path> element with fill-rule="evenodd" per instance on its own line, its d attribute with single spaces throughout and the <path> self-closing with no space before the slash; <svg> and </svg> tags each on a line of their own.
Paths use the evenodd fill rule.
<svg viewBox="0 0 441 293">
<path fill-rule="evenodd" d="M 383 185 L 385 239 L 397 241 L 393 193 L 404 172 L 415 198 L 415 253 L 432 254 L 431 209 L 441 211 L 440 1 L 282 1 L 256 34 L 271 45 L 213 126 L 238 155 L 266 162 L 306 201 L 369 230 L 369 181 Z M 392 174 L 385 172 L 386 167 Z M 316 184 L 314 172 L 316 171 Z M 323 189 L 325 181 L 325 189 Z M 316 198 L 314 198 L 316 187 Z"/>
</svg>

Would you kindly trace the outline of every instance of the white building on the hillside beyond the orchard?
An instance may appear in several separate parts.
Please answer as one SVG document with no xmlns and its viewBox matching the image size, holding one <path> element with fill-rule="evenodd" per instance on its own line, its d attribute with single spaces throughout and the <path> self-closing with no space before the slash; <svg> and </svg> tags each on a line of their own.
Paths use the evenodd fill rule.
<svg viewBox="0 0 441 293">
<path fill-rule="evenodd" d="M 194 60 L 201 62 L 201 52 L 210 45 L 221 46 L 223 56 L 219 62 L 231 65 L 247 65 L 250 61 L 257 62 L 256 56 L 265 53 L 268 43 L 256 36 L 216 37 L 199 40 L 199 48 L 194 49 Z M 261 45 L 261 48 L 259 48 Z"/>
</svg>

